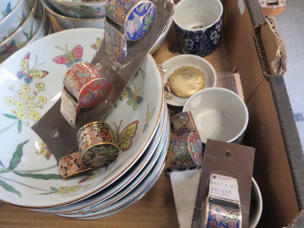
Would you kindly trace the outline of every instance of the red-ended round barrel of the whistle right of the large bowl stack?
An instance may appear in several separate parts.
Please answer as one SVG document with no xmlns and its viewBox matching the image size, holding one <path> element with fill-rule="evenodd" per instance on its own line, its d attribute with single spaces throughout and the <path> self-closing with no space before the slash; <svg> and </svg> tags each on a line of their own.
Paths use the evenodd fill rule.
<svg viewBox="0 0 304 228">
<path fill-rule="evenodd" d="M 194 168 L 202 165 L 202 141 L 195 133 L 170 140 L 168 158 L 175 168 Z"/>
</svg>

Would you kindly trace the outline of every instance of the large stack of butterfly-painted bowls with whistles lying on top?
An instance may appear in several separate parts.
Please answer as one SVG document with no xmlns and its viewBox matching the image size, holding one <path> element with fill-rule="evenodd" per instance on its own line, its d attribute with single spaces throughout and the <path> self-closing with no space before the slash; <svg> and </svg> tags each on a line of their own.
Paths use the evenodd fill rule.
<svg viewBox="0 0 304 228">
<path fill-rule="evenodd" d="M 51 151 L 30 128 L 60 98 L 67 68 L 92 60 L 103 32 L 83 28 L 54 33 L 0 65 L 0 143 L 5 151 L 0 156 L 1 201 L 40 213 L 99 219 L 126 209 L 157 181 L 170 128 L 161 75 L 151 55 L 103 119 L 120 135 L 130 137 L 129 149 L 121 150 L 107 167 L 62 179 Z M 27 84 L 24 78 L 34 71 L 38 77 Z M 136 127 L 131 130 L 130 125 Z"/>
</svg>

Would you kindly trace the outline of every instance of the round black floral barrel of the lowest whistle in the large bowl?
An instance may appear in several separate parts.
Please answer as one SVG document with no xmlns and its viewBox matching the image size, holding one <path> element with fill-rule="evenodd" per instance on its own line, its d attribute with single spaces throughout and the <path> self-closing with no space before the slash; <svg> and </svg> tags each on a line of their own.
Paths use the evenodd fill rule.
<svg viewBox="0 0 304 228">
<path fill-rule="evenodd" d="M 115 161 L 119 154 L 112 128 L 104 122 L 82 126 L 77 133 L 81 162 L 96 168 Z"/>
</svg>

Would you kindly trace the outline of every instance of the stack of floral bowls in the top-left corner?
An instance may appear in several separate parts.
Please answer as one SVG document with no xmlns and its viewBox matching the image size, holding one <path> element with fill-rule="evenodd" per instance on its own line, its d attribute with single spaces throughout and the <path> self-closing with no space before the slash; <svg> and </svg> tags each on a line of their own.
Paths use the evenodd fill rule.
<svg viewBox="0 0 304 228">
<path fill-rule="evenodd" d="M 0 63 L 21 47 L 54 33 L 50 16 L 39 0 L 4 0 L 1 3 Z"/>
</svg>

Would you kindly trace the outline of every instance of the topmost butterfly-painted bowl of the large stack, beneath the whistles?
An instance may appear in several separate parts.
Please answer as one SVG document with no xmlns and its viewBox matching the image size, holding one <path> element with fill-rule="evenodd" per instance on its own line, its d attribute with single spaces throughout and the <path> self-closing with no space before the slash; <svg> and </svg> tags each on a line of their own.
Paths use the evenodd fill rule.
<svg viewBox="0 0 304 228">
<path fill-rule="evenodd" d="M 69 64 L 90 62 L 103 33 L 103 29 L 95 28 L 54 33 L 23 47 L 0 64 L 0 143 L 5 151 L 0 155 L 1 201 L 26 208 L 51 208 L 79 201 L 132 169 L 149 146 L 164 107 L 161 75 L 151 55 L 103 119 L 117 130 L 118 140 L 129 139 L 119 143 L 124 150 L 107 167 L 87 176 L 62 179 L 52 152 L 30 128 L 60 98 Z M 60 58 L 66 61 L 57 63 Z M 34 73 L 40 76 L 32 82 L 25 80 Z"/>
</svg>

